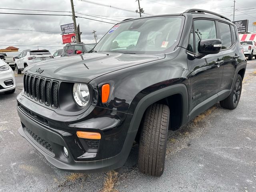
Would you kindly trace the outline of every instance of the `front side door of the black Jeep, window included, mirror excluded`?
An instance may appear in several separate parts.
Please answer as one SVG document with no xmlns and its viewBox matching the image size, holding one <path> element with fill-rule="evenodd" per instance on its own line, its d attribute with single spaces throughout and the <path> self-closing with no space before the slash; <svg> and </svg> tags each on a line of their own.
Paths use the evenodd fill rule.
<svg viewBox="0 0 256 192">
<path fill-rule="evenodd" d="M 203 39 L 216 39 L 216 21 L 196 19 L 190 32 L 187 48 L 187 62 L 190 72 L 190 116 L 203 112 L 217 102 L 222 78 L 221 53 L 194 58 L 198 53 L 198 43 Z M 192 118 L 191 117 L 191 118 Z"/>
</svg>

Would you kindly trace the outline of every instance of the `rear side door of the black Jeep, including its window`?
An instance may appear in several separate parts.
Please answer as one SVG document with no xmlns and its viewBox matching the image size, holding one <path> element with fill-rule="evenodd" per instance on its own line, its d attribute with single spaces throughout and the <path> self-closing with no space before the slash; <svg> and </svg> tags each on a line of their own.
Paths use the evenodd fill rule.
<svg viewBox="0 0 256 192">
<path fill-rule="evenodd" d="M 240 53 L 236 47 L 238 36 L 234 26 L 228 23 L 218 22 L 218 29 L 218 38 L 221 39 L 222 42 L 220 52 L 224 58 L 220 90 L 231 90 L 232 83 L 236 76 L 238 59 L 240 58 Z"/>
</svg>

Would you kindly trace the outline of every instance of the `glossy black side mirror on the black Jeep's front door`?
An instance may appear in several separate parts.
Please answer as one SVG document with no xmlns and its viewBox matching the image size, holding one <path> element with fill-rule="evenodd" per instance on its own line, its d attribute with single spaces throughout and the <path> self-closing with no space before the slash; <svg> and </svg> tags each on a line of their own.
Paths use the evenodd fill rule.
<svg viewBox="0 0 256 192">
<path fill-rule="evenodd" d="M 217 54 L 221 49 L 220 39 L 204 39 L 198 42 L 198 54 L 196 58 L 203 58 L 208 54 Z"/>
</svg>

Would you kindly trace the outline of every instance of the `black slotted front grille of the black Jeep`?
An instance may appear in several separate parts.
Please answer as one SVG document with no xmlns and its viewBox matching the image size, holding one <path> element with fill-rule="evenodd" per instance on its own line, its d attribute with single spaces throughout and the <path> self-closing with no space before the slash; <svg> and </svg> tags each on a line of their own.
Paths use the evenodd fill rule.
<svg viewBox="0 0 256 192">
<path fill-rule="evenodd" d="M 24 93 L 46 106 L 58 108 L 58 87 L 59 82 L 45 79 L 39 76 L 24 74 Z"/>
</svg>

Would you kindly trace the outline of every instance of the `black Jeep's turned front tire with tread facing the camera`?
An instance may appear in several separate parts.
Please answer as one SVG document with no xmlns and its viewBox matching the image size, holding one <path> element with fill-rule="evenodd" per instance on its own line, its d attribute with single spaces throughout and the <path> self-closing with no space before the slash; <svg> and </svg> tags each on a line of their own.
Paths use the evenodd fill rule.
<svg viewBox="0 0 256 192">
<path fill-rule="evenodd" d="M 146 110 L 140 134 L 138 167 L 140 172 L 161 176 L 164 172 L 170 110 L 152 104 Z"/>
</svg>

